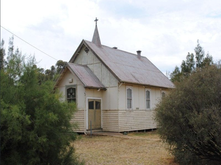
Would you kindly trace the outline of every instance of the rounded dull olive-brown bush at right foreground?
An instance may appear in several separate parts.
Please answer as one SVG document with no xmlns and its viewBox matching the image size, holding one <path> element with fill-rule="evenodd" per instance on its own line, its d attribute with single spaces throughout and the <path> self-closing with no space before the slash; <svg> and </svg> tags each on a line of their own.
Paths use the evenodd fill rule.
<svg viewBox="0 0 221 165">
<path fill-rule="evenodd" d="M 221 163 L 221 68 L 198 68 L 156 108 L 161 138 L 180 164 Z"/>
</svg>

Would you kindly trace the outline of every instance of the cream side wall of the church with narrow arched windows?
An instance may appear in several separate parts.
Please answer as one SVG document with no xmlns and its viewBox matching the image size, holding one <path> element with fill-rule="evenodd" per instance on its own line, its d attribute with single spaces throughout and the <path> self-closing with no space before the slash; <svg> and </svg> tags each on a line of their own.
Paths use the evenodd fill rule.
<svg viewBox="0 0 221 165">
<path fill-rule="evenodd" d="M 126 89 L 132 89 L 132 108 L 127 109 Z M 150 108 L 146 108 L 145 91 L 150 91 Z M 119 88 L 119 132 L 157 128 L 154 121 L 155 106 L 162 98 L 162 92 L 157 87 L 123 84 Z"/>
</svg>

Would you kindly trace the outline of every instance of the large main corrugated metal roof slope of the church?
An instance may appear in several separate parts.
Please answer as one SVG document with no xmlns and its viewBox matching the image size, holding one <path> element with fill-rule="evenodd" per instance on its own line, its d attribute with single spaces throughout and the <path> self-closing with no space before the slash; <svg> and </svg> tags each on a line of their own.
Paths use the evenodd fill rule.
<svg viewBox="0 0 221 165">
<path fill-rule="evenodd" d="M 174 84 L 146 57 L 138 58 L 136 54 L 104 45 L 98 47 L 90 41 L 83 40 L 83 43 L 86 43 L 121 82 L 174 88 Z"/>
</svg>

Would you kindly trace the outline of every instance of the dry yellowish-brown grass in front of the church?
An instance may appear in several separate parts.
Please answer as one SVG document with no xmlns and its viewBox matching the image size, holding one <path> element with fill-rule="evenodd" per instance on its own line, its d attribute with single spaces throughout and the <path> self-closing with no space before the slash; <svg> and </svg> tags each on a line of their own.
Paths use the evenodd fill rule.
<svg viewBox="0 0 221 165">
<path fill-rule="evenodd" d="M 81 135 L 74 147 L 86 165 L 175 165 L 156 132 L 117 137 Z"/>
</svg>

